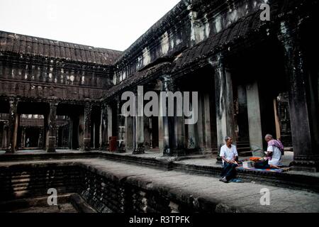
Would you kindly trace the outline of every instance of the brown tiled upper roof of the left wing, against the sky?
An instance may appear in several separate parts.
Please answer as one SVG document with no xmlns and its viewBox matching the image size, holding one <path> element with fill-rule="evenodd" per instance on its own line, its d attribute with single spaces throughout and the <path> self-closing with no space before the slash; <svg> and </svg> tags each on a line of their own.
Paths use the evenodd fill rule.
<svg viewBox="0 0 319 227">
<path fill-rule="evenodd" d="M 118 50 L 94 48 L 5 31 L 0 31 L 0 52 L 15 52 L 23 55 L 52 57 L 98 65 L 113 65 L 122 54 Z"/>
</svg>

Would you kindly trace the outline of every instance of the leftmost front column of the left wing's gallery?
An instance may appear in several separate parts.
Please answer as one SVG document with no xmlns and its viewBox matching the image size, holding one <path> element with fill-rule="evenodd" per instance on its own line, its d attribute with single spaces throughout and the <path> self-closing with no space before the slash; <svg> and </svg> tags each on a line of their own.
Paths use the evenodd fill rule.
<svg viewBox="0 0 319 227">
<path fill-rule="evenodd" d="M 6 153 L 14 153 L 16 151 L 16 140 L 18 137 L 18 101 L 16 99 L 9 99 L 9 124 L 8 135 L 6 142 Z"/>
</svg>

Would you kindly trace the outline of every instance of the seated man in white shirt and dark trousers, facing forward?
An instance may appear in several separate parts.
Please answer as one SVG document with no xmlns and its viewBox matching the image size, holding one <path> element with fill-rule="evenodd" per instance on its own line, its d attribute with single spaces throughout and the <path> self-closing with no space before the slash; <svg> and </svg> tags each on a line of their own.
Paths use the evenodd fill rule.
<svg viewBox="0 0 319 227">
<path fill-rule="evenodd" d="M 238 159 L 238 153 L 236 146 L 233 145 L 231 137 L 225 137 L 226 144 L 220 148 L 220 157 L 223 160 L 223 170 L 221 173 L 220 181 L 227 183 L 230 179 L 233 179 L 236 175 L 236 167 Z"/>
</svg>

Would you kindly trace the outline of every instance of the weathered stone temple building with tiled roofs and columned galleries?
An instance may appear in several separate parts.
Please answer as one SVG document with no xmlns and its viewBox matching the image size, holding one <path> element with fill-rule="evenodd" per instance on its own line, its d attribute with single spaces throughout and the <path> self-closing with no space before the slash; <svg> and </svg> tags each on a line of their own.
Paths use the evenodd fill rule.
<svg viewBox="0 0 319 227">
<path fill-rule="evenodd" d="M 317 172 L 318 7 L 182 0 L 124 52 L 0 31 L 0 148 L 192 155 L 230 135 L 245 156 L 271 133 L 295 170 Z M 138 86 L 198 92 L 197 123 L 123 116 L 121 95 Z"/>
</svg>

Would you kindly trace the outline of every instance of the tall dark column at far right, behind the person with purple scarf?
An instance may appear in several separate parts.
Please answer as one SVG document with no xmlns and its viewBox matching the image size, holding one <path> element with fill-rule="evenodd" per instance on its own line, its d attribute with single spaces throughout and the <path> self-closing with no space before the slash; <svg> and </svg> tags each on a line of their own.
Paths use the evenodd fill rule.
<svg viewBox="0 0 319 227">
<path fill-rule="evenodd" d="M 318 98 L 307 72 L 301 38 L 295 23 L 281 23 L 279 40 L 284 47 L 286 74 L 289 76 L 289 114 L 293 143 L 293 169 L 318 172 Z M 301 26 L 301 25 L 300 25 Z"/>
</svg>

